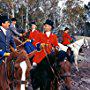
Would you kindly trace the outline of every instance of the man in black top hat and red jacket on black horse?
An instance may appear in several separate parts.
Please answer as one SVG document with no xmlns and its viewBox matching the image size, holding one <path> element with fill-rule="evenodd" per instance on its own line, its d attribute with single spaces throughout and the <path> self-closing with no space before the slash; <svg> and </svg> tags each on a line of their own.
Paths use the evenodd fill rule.
<svg viewBox="0 0 90 90">
<path fill-rule="evenodd" d="M 55 34 L 52 33 L 53 29 L 53 22 L 49 19 L 46 20 L 44 23 L 44 30 L 45 32 L 40 34 L 41 40 L 40 43 L 37 44 L 37 46 L 42 47 L 42 49 L 38 52 L 36 52 L 33 62 L 36 64 L 39 64 L 47 54 L 50 54 L 52 52 L 53 47 L 58 47 L 58 39 Z"/>
</svg>

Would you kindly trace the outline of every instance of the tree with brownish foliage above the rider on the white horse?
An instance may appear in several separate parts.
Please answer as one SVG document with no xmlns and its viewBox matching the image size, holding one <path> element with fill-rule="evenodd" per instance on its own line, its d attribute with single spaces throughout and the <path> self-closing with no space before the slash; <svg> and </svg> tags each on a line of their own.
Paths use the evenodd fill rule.
<svg viewBox="0 0 90 90">
<path fill-rule="evenodd" d="M 80 4 L 81 0 L 67 0 L 63 9 L 63 17 L 61 23 L 71 27 L 72 30 L 82 30 L 85 25 L 83 19 L 85 9 Z"/>
</svg>

